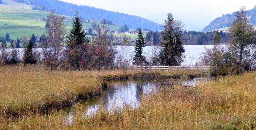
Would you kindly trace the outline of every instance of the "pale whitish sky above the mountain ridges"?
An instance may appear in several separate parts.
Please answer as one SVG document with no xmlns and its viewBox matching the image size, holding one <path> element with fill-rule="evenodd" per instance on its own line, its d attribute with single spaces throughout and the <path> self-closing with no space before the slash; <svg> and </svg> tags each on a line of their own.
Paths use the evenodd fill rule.
<svg viewBox="0 0 256 130">
<path fill-rule="evenodd" d="M 256 0 L 61 0 L 78 5 L 144 17 L 163 24 L 167 14 L 182 21 L 187 31 L 201 31 L 216 17 L 231 14 L 246 6 L 251 10 Z"/>
</svg>

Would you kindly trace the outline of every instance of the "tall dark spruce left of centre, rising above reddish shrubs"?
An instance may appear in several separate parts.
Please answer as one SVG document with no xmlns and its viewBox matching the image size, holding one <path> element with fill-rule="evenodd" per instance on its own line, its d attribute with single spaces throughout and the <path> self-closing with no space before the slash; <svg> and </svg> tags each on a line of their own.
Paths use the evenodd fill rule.
<svg viewBox="0 0 256 130">
<path fill-rule="evenodd" d="M 77 10 L 72 20 L 72 27 L 66 42 L 68 62 L 72 68 L 78 69 L 81 63 L 84 64 L 86 46 L 89 40 L 86 37 L 86 32 L 82 28 L 82 20 Z"/>
</svg>

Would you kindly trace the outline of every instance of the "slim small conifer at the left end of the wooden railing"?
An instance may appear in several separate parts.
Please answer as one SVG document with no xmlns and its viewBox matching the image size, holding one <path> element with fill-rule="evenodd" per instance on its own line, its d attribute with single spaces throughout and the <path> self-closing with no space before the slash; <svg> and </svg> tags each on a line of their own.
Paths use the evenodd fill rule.
<svg viewBox="0 0 256 130">
<path fill-rule="evenodd" d="M 133 60 L 132 64 L 142 66 L 143 63 L 146 63 L 146 57 L 142 56 L 142 53 L 143 53 L 142 49 L 146 46 L 146 43 L 145 43 L 145 38 L 142 34 L 141 29 L 139 30 L 138 38 L 136 39 L 137 41 L 134 45 L 135 55 L 134 55 L 134 58 L 132 58 Z"/>
</svg>

